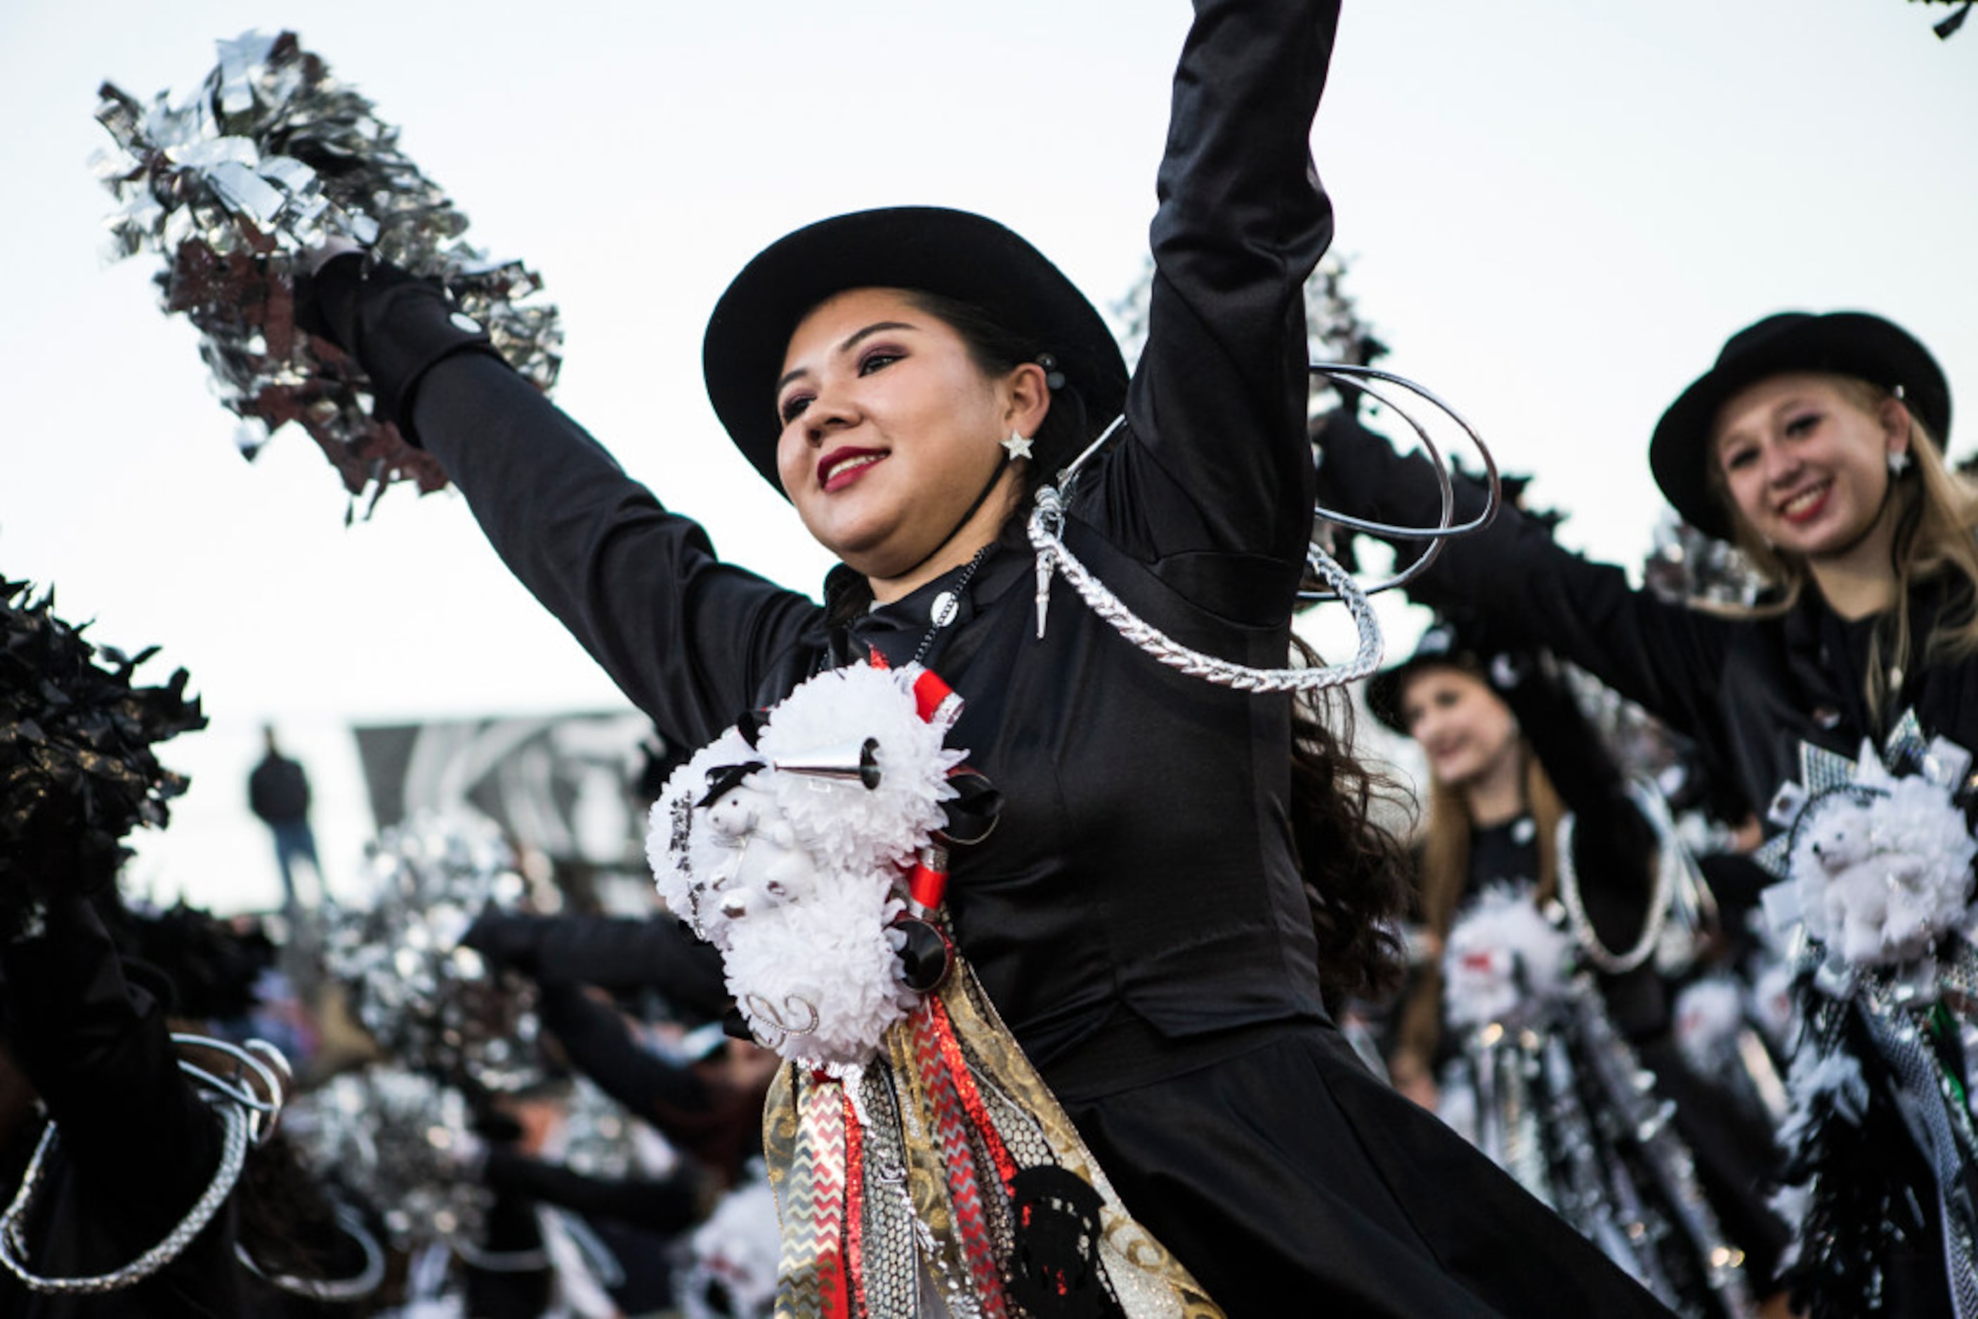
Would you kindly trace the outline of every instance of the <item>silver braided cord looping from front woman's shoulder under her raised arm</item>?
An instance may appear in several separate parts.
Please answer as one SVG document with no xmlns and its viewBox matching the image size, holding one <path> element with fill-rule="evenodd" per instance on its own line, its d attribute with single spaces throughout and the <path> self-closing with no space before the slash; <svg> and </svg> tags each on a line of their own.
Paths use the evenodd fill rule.
<svg viewBox="0 0 1978 1319">
<path fill-rule="evenodd" d="M 1250 668 L 1234 660 L 1203 655 L 1181 645 L 1161 629 L 1153 627 L 1125 603 L 1106 589 L 1106 583 L 1092 575 L 1084 564 L 1064 546 L 1064 500 L 1056 486 L 1036 492 L 1036 508 L 1031 512 L 1031 548 L 1036 550 L 1036 635 L 1044 635 L 1044 609 L 1050 601 L 1050 579 L 1062 575 L 1086 601 L 1092 613 L 1114 625 L 1122 637 L 1139 651 L 1151 655 L 1169 668 L 1191 678 L 1205 678 L 1216 686 L 1238 692 L 1311 692 L 1325 686 L 1339 686 L 1365 678 L 1381 666 L 1381 623 L 1373 617 L 1373 605 L 1355 585 L 1353 575 L 1331 560 L 1329 554 L 1311 546 L 1309 562 L 1339 593 L 1353 613 L 1353 627 L 1359 633 L 1359 651 L 1345 664 L 1325 664 L 1321 668 Z"/>
</svg>

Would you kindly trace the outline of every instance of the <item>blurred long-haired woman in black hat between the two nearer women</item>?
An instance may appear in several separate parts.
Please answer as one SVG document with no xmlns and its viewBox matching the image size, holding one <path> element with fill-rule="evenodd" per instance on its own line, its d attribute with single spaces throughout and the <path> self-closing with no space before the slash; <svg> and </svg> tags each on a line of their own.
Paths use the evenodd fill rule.
<svg viewBox="0 0 1978 1319">
<path fill-rule="evenodd" d="M 1426 963 L 1389 1060 L 1396 1088 L 1472 1139 L 1489 1129 L 1489 1153 L 1517 1163 L 1497 1139 L 1509 1109 L 1480 1111 L 1493 1086 L 1478 1070 L 1495 1066 L 1493 1048 L 1517 1054 L 1513 1068 L 1527 1058 L 1499 1038 L 1503 1030 L 1491 1046 L 1480 1046 L 1472 1032 L 1523 1022 L 1547 1042 L 1557 1038 L 1565 1048 L 1547 1058 L 1565 1060 L 1569 1072 L 1545 1072 L 1533 1094 L 1559 1101 L 1533 1099 L 1529 1117 L 1521 1115 L 1543 1145 L 1539 1161 L 1507 1171 L 1531 1177 L 1527 1185 L 1590 1238 L 1606 1234 L 1602 1244 L 1620 1248 L 1632 1272 L 1681 1313 L 1756 1313 L 1754 1297 L 1774 1291 L 1784 1246 L 1784 1228 L 1764 1204 L 1772 1133 L 1739 1121 L 1725 1096 L 1683 1064 L 1671 1038 L 1658 955 L 1669 894 L 1656 878 L 1658 866 L 1679 864 L 1662 854 L 1679 844 L 1660 836 L 1636 805 L 1543 651 L 1491 651 L 1476 645 L 1476 629 L 1438 623 L 1410 659 L 1375 674 L 1367 698 L 1377 718 L 1414 738 L 1428 757 L 1416 848 Z M 1569 817 L 1571 831 L 1561 833 Z M 1571 854 L 1563 858 L 1561 846 Z M 1563 878 L 1571 878 L 1567 890 Z M 1571 935 L 1557 929 L 1561 923 Z M 1462 929 L 1454 939 L 1460 949 L 1450 947 L 1452 929 Z M 1489 1012 L 1480 1009 L 1480 983 L 1442 973 L 1444 959 L 1462 953 L 1517 957 L 1523 937 L 1555 955 L 1547 967 L 1519 963 L 1511 993 Z M 1569 949 L 1569 939 L 1580 947 Z M 1598 997 L 1573 967 L 1594 971 Z M 1638 1064 L 1650 1068 L 1656 1092 L 1648 1103 L 1675 1103 L 1673 1137 L 1660 1125 L 1644 1137 L 1634 1123 L 1588 1121 L 1620 1107 L 1602 1090 L 1606 1064 L 1630 1082 Z M 1458 1082 L 1448 1096 L 1438 1094 L 1446 1074 Z M 1580 1155 L 1602 1165 L 1598 1179 L 1574 1181 Z M 1707 1216 L 1693 1214 L 1691 1163 Z M 1628 1232 L 1644 1220 L 1648 1230 Z M 1727 1246 L 1737 1268 L 1727 1268 Z M 1772 1305 L 1786 1313 L 1784 1295 Z"/>
</svg>

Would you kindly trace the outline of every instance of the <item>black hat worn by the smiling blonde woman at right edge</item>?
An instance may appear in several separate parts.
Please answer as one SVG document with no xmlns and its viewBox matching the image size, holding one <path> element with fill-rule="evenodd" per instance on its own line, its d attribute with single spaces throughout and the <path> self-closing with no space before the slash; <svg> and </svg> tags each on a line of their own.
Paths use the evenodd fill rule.
<svg viewBox="0 0 1978 1319">
<path fill-rule="evenodd" d="M 1931 350 L 1901 326 L 1869 312 L 1816 316 L 1778 312 L 1749 324 L 1717 354 L 1717 364 L 1669 403 L 1648 443 L 1656 484 L 1685 522 L 1719 540 L 1733 538 L 1731 512 L 1711 488 L 1709 443 L 1717 409 L 1745 386 L 1780 372 L 1832 372 L 1901 390 L 1909 411 L 1936 443 L 1950 435 L 1950 384 Z"/>
</svg>

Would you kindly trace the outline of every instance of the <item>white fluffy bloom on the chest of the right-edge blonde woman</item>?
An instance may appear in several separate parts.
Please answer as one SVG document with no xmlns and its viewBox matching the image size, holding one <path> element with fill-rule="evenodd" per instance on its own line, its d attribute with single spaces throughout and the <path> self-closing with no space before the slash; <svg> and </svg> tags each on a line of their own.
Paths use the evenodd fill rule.
<svg viewBox="0 0 1978 1319">
<path fill-rule="evenodd" d="M 1861 785 L 1879 791 L 1834 793 L 1796 829 L 1800 916 L 1812 937 L 1857 967 L 1915 961 L 1964 923 L 1978 844 L 1929 779 L 1879 775 Z"/>
</svg>

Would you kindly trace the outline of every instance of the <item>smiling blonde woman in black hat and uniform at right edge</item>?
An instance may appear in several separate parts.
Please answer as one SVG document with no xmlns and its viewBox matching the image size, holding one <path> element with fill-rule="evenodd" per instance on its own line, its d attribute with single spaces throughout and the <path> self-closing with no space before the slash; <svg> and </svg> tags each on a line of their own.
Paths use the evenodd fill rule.
<svg viewBox="0 0 1978 1319">
<path fill-rule="evenodd" d="M 1472 554 L 1444 556 L 1412 593 L 1482 613 L 1509 641 L 1551 645 L 1703 744 L 1747 801 L 1774 801 L 1782 787 L 1810 797 L 1818 783 L 1806 781 L 1808 765 L 1853 763 L 1863 742 L 1905 773 L 1927 769 L 1911 747 L 1931 738 L 1978 746 L 1978 498 L 1944 467 L 1948 427 L 1944 374 L 1897 324 L 1863 312 L 1766 316 L 1725 342 L 1650 443 L 1675 510 L 1735 540 L 1762 573 L 1768 589 L 1754 607 L 1658 601 L 1515 512 Z M 1434 508 L 1426 471 L 1353 419 L 1335 419 L 1321 443 L 1321 484 L 1343 506 L 1387 520 Z M 1470 506 L 1478 500 L 1466 492 Z M 1768 829 L 1792 838 L 1778 819 Z M 1901 862 L 1901 848 L 1881 846 L 1887 864 Z M 1966 1066 L 1931 1024 L 1936 977 L 1968 949 L 1954 933 L 1966 923 L 1968 860 L 1954 870 L 1944 878 L 1956 894 L 1929 925 L 1934 951 L 1897 949 L 1875 922 L 1873 951 L 1849 957 L 1834 931 L 1804 967 L 1816 1020 L 1796 1058 L 1788 1177 L 1810 1200 L 1788 1279 L 1822 1317 L 1978 1305 L 1964 1222 L 1974 1202 L 1970 1119 L 1923 1076 Z M 1929 985 L 1913 1009 L 1849 989 L 1873 989 L 1893 965 Z M 1968 1012 L 1954 995 L 1942 1003 Z M 1925 1042 L 1897 1064 L 1885 1044 L 1903 1020 Z M 1822 1060 L 1830 1066 L 1816 1068 Z M 1816 1072 L 1832 1090 L 1814 1084 Z M 1931 1121 L 1911 1129 L 1903 1109 Z M 1944 1202 L 1954 1206 L 1948 1224 Z M 1958 1311 L 1952 1287 L 1970 1297 Z"/>
</svg>

